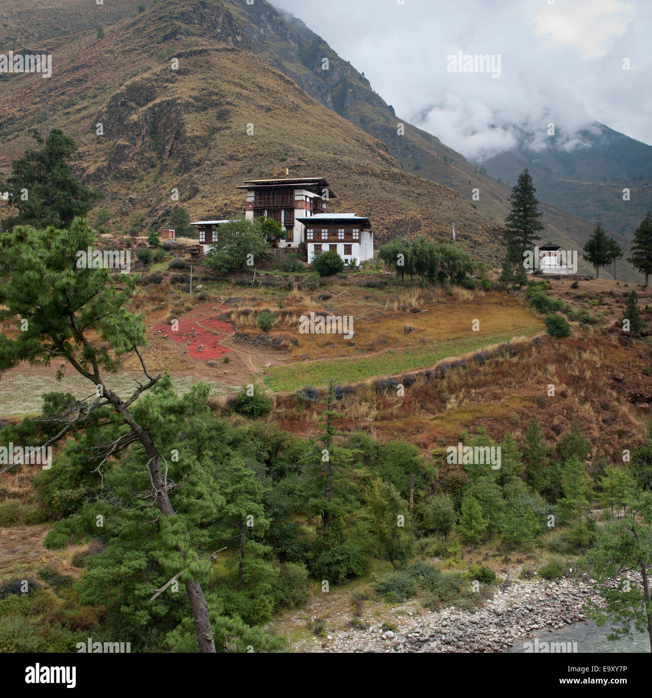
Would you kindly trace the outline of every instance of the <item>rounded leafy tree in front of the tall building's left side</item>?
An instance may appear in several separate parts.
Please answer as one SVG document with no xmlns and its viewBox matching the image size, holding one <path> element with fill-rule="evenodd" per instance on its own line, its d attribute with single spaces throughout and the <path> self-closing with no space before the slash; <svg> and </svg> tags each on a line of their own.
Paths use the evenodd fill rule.
<svg viewBox="0 0 652 698">
<path fill-rule="evenodd" d="M 231 272 L 259 259 L 267 249 L 260 221 L 229 221 L 220 225 L 218 241 L 209 247 L 205 263 L 216 272 Z"/>
</svg>

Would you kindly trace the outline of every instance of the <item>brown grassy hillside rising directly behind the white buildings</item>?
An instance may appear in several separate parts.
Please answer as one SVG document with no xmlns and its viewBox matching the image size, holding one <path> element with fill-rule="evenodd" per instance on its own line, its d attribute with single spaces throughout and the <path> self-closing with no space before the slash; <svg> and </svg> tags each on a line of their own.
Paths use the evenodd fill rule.
<svg viewBox="0 0 652 698">
<path fill-rule="evenodd" d="M 492 221 L 450 188 L 402 171 L 379 140 L 262 64 L 218 0 L 161 1 L 102 39 L 90 30 L 48 44 L 51 124 L 79 143 L 75 168 L 105 193 L 110 225 L 124 228 L 133 214 L 162 223 L 176 205 L 173 189 L 193 217 L 242 214 L 237 184 L 289 168 L 324 175 L 337 209 L 370 215 L 379 242 L 407 230 L 448 239 L 455 221 L 461 246 L 499 258 Z M 2 83 L 5 172 L 29 143 L 27 130 L 43 128 L 43 82 L 12 75 Z"/>
</svg>

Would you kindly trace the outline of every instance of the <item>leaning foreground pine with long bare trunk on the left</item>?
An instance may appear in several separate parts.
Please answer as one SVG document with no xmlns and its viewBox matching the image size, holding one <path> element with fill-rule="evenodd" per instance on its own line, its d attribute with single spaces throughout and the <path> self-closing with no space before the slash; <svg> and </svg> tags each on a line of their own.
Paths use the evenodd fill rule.
<svg viewBox="0 0 652 698">
<path fill-rule="evenodd" d="M 159 564 L 165 563 L 168 569 L 174 566 L 176 574 L 184 577 L 199 649 L 214 652 L 209 610 L 199 583 L 208 571 L 209 558 L 202 558 L 189 539 L 187 523 L 170 500 L 167 469 L 162 467 L 165 454 L 169 456 L 173 448 L 167 436 L 170 425 L 189 416 L 207 391 L 195 390 L 185 400 L 174 394 L 172 399 L 170 381 L 147 371 L 141 350 L 146 342 L 142 318 L 126 309 L 135 279 L 123 274 L 116 285 L 108 269 L 77 268 L 77 251 L 94 242 L 93 230 L 79 218 L 64 232 L 19 225 L 0 235 L 0 324 L 27 320 L 15 339 L 0 334 L 0 371 L 22 361 L 45 365 L 63 361 L 88 381 L 90 396 L 85 399 L 69 394 L 47 398 L 43 416 L 22 426 L 32 432 L 26 438 L 38 436 L 40 445 L 47 446 L 80 432 L 84 439 L 84 431 L 89 430 L 77 446 L 84 465 L 100 472 L 126 447 L 139 445 L 140 489 L 149 491 L 149 506 L 158 512 L 153 519 L 166 547 Z M 117 392 L 110 378 L 127 352 L 139 358 L 144 378 L 130 396 L 121 397 L 122 391 Z M 65 539 L 57 540 L 55 535 L 50 543 L 61 545 Z"/>
</svg>

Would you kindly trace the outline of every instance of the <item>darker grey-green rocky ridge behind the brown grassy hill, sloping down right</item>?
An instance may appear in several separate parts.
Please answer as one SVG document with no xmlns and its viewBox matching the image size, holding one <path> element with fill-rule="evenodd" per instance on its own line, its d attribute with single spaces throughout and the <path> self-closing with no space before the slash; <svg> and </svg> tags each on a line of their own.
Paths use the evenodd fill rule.
<svg viewBox="0 0 652 698">
<path fill-rule="evenodd" d="M 510 187 L 498 178 L 510 179 L 514 184 L 518 172 L 528 166 L 527 162 L 522 163 L 513 177 L 490 176 L 494 173 L 479 170 L 435 136 L 398 117 L 393 107 L 372 90 L 370 82 L 358 70 L 339 57 L 324 39 L 298 18 L 265 1 L 253 5 L 248 5 L 246 0 L 225 0 L 225 3 L 233 8 L 234 16 L 262 60 L 291 77 L 322 104 L 384 142 L 404 170 L 450 186 L 479 211 L 502 223 L 510 209 Z M 328 59 L 327 70 L 323 69 L 324 58 Z M 403 124 L 404 135 L 398 135 L 398 124 Z M 539 172 L 533 174 L 535 185 L 539 187 Z M 473 202 L 472 192 L 476 188 L 480 200 Z M 538 196 L 546 227 L 543 239 L 552 239 L 565 248 L 581 251 L 593 232 L 591 221 L 595 216 L 585 209 L 581 214 L 563 210 L 565 207 L 559 201 L 566 199 L 558 201 L 549 195 L 547 188 L 538 191 Z M 603 223 L 607 229 L 611 228 L 608 222 Z M 608 232 L 623 249 L 629 248 L 624 231 Z M 618 269 L 621 278 L 638 279 L 636 272 L 625 262 L 618 262 Z"/>
</svg>

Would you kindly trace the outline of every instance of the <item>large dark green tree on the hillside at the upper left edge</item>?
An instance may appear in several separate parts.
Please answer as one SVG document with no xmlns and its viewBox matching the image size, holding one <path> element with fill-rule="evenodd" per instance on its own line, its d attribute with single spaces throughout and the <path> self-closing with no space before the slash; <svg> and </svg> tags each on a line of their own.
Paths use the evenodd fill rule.
<svg viewBox="0 0 652 698">
<path fill-rule="evenodd" d="M 75 216 L 88 213 L 101 194 L 80 184 L 70 170 L 77 151 L 72 138 L 60 128 L 53 128 L 45 142 L 36 133 L 34 138 L 40 150 L 27 150 L 13 161 L 6 181 L 0 181 L 0 191 L 9 194 L 9 208 L 17 211 L 3 225 L 9 229 L 14 225 L 33 225 L 39 230 L 50 225 L 68 228 Z"/>
</svg>

